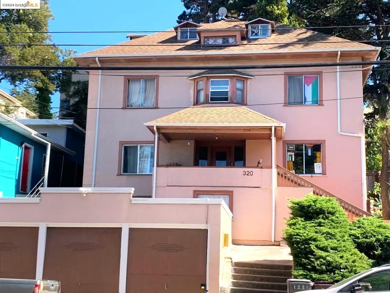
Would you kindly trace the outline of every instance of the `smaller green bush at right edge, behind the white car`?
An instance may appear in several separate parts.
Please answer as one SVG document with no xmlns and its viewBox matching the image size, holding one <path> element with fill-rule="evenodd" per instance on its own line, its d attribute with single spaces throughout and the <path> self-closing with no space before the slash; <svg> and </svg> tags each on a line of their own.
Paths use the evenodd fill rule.
<svg viewBox="0 0 390 293">
<path fill-rule="evenodd" d="M 374 261 L 374 265 L 390 262 L 390 225 L 375 217 L 358 218 L 350 235 L 356 248 Z"/>
</svg>

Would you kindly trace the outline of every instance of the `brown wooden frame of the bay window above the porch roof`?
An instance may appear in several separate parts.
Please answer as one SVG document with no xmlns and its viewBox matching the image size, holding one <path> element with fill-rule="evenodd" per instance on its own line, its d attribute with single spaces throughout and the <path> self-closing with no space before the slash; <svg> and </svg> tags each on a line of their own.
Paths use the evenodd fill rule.
<svg viewBox="0 0 390 293">
<path fill-rule="evenodd" d="M 210 80 L 212 79 L 229 79 L 229 101 L 228 102 L 210 102 Z M 236 102 L 236 80 L 242 80 L 244 82 L 244 101 L 243 103 Z M 248 93 L 248 79 L 245 77 L 236 77 L 232 75 L 220 75 L 220 76 L 207 76 L 207 77 L 199 77 L 194 80 L 194 105 L 201 104 L 239 104 L 246 105 L 247 103 L 247 93 Z M 203 81 L 203 102 L 197 102 L 197 82 Z"/>
</svg>

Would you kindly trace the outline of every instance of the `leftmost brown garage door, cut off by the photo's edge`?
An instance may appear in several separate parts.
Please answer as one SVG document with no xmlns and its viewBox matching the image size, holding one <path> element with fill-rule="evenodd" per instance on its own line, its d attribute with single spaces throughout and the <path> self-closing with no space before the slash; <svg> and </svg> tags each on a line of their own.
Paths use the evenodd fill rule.
<svg viewBox="0 0 390 293">
<path fill-rule="evenodd" d="M 0 278 L 35 279 L 38 227 L 0 227 Z"/>
</svg>

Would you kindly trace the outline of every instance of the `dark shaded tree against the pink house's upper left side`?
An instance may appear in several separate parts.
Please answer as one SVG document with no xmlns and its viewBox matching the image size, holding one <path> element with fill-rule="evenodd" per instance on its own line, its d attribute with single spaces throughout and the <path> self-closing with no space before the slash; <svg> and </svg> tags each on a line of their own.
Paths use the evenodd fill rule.
<svg viewBox="0 0 390 293">
<path fill-rule="evenodd" d="M 74 101 L 69 108 L 64 109 L 64 117 L 72 118 L 74 122 L 85 129 L 87 121 L 88 80 L 77 80 L 63 92 Z"/>
</svg>

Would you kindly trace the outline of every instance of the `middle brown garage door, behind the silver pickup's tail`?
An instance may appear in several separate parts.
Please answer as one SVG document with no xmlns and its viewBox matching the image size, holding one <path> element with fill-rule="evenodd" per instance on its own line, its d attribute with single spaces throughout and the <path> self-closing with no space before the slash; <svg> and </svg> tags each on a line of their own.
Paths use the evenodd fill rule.
<svg viewBox="0 0 390 293">
<path fill-rule="evenodd" d="M 121 228 L 48 227 L 43 278 L 62 293 L 117 293 Z"/>
</svg>

